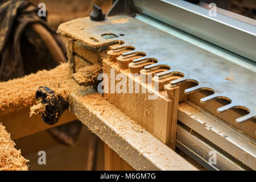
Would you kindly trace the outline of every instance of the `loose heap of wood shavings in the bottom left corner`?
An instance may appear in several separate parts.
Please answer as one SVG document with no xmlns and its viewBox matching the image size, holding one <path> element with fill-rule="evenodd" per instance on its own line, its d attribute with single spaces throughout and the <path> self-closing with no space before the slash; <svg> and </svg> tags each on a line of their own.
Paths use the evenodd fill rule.
<svg viewBox="0 0 256 182">
<path fill-rule="evenodd" d="M 27 171 L 28 166 L 20 150 L 16 150 L 15 143 L 10 134 L 0 123 L 0 171 Z"/>
</svg>

